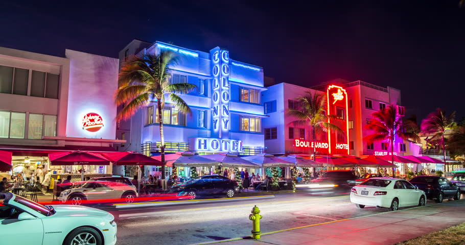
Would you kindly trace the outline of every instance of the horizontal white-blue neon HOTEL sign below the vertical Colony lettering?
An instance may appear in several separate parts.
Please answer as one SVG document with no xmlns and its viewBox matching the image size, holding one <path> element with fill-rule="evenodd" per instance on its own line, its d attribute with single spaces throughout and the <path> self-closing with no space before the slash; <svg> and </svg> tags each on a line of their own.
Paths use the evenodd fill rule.
<svg viewBox="0 0 465 245">
<path fill-rule="evenodd" d="M 243 152 L 242 140 L 216 139 L 216 138 L 192 138 L 194 151 L 208 152 Z"/>
</svg>

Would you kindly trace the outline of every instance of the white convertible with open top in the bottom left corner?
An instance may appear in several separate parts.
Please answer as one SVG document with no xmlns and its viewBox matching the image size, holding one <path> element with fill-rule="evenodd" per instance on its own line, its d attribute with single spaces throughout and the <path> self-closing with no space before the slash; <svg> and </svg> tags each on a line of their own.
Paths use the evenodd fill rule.
<svg viewBox="0 0 465 245">
<path fill-rule="evenodd" d="M 2 244 L 114 245 L 117 224 L 108 212 L 73 205 L 41 205 L 0 193 Z"/>
</svg>

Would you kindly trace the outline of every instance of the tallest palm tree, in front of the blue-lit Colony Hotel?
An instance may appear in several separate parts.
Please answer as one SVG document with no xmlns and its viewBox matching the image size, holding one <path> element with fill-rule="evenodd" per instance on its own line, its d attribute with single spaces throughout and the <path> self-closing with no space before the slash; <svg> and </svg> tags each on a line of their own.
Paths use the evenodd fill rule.
<svg viewBox="0 0 465 245">
<path fill-rule="evenodd" d="M 196 88 L 196 85 L 189 83 L 170 83 L 170 68 L 177 63 L 178 58 L 171 51 L 164 51 L 159 55 L 144 54 L 130 58 L 120 69 L 119 87 L 115 95 L 117 105 L 123 105 L 117 118 L 123 120 L 130 118 L 151 101 L 156 101 L 160 125 L 160 155 L 163 162 L 162 179 L 165 179 L 165 137 L 162 110 L 165 107 L 166 96 L 181 112 L 191 113 L 189 106 L 177 93 L 188 93 Z"/>
</svg>

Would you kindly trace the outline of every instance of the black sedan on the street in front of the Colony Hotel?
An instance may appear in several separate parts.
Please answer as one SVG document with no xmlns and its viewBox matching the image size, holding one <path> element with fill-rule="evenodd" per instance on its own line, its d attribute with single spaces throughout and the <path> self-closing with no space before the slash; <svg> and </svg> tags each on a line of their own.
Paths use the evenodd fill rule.
<svg viewBox="0 0 465 245">
<path fill-rule="evenodd" d="M 223 195 L 232 198 L 239 192 L 239 183 L 220 175 L 199 176 L 177 186 L 171 187 L 170 193 L 188 195 L 189 199 L 196 199 L 205 195 Z"/>
</svg>

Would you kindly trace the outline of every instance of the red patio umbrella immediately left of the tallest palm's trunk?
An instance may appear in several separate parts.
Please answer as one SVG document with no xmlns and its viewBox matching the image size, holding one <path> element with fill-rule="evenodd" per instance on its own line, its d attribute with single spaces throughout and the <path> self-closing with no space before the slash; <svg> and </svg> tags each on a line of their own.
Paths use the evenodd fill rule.
<svg viewBox="0 0 465 245">
<path fill-rule="evenodd" d="M 112 161 L 114 165 L 163 165 L 161 161 L 138 152 L 111 152 L 102 155 Z"/>
</svg>

